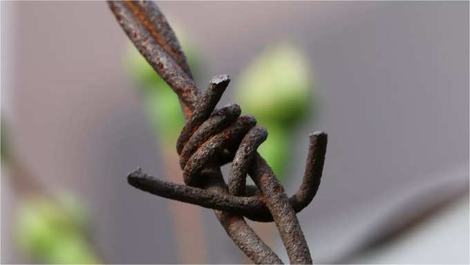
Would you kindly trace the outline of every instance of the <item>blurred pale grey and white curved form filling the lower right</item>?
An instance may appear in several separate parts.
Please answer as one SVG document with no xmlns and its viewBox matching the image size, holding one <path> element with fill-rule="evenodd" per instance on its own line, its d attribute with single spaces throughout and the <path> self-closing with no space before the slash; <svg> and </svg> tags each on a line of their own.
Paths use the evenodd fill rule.
<svg viewBox="0 0 470 265">
<path fill-rule="evenodd" d="M 323 219 L 321 213 L 318 219 L 308 220 L 300 213 L 314 262 L 468 264 L 468 172 L 468 165 L 447 170 L 436 174 L 434 181 L 410 183 L 403 190 L 371 198 L 367 205 Z M 314 201 L 309 207 L 314 208 Z M 409 225 L 412 220 L 415 226 Z M 406 224 L 409 228 L 397 237 L 366 248 Z M 288 261 L 281 241 L 276 244 L 276 253 Z"/>
</svg>

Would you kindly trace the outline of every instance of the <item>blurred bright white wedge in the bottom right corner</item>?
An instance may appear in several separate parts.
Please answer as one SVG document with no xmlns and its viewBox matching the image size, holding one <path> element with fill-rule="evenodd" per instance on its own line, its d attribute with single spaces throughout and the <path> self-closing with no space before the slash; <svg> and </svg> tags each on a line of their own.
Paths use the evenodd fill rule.
<svg viewBox="0 0 470 265">
<path fill-rule="evenodd" d="M 455 201 L 390 244 L 350 262 L 469 264 L 469 197 Z"/>
</svg>

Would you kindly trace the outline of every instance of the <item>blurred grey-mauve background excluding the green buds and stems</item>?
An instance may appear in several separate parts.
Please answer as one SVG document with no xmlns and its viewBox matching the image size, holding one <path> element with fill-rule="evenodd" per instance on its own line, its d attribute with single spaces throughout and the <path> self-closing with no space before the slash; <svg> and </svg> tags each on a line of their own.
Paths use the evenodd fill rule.
<svg viewBox="0 0 470 265">
<path fill-rule="evenodd" d="M 285 37 L 308 52 L 318 107 L 296 133 L 289 173 L 298 177 L 286 190 L 292 194 L 301 182 L 308 134 L 328 132 L 319 193 L 298 214 L 316 262 L 469 262 L 468 2 L 160 8 L 196 39 L 206 66 L 200 87 L 220 73 L 236 82 L 252 57 Z M 126 183 L 136 167 L 159 176 L 161 154 L 124 71 L 129 40 L 107 4 L 2 1 L 1 22 L 1 111 L 16 152 L 41 182 L 84 199 L 106 262 L 178 262 L 169 201 Z M 221 102 L 232 100 L 230 93 Z M 462 189 L 419 229 L 354 254 L 384 220 Z M 2 263 L 28 261 L 11 235 L 16 201 L 2 176 Z M 246 262 L 213 212 L 203 216 L 206 262 Z"/>
</svg>

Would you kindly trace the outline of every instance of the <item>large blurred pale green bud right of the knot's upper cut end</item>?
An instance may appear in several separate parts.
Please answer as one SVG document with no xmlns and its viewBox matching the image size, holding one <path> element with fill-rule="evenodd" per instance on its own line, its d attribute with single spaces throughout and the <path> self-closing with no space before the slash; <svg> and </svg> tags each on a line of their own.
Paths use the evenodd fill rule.
<svg viewBox="0 0 470 265">
<path fill-rule="evenodd" d="M 289 44 L 268 48 L 241 73 L 237 102 L 260 122 L 292 127 L 309 112 L 312 70 Z"/>
</svg>

